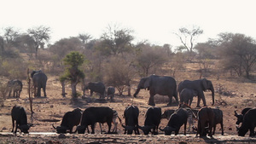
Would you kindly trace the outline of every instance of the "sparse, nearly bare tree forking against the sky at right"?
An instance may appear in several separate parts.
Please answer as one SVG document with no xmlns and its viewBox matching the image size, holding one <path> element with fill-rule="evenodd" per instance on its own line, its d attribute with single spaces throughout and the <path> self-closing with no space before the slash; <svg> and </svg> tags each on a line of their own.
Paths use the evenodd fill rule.
<svg viewBox="0 0 256 144">
<path fill-rule="evenodd" d="M 194 50 L 195 40 L 198 36 L 203 33 L 203 30 L 199 26 L 192 26 L 192 28 L 181 27 L 178 29 L 178 32 L 174 34 L 180 39 L 183 43 L 183 49 L 186 49 L 189 52 L 189 59 L 192 59 L 192 53 Z"/>
</svg>

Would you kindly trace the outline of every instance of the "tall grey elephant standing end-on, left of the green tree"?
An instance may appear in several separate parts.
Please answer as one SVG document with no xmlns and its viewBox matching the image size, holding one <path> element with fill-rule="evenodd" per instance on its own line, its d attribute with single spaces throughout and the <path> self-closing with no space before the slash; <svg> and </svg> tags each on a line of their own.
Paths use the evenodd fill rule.
<svg viewBox="0 0 256 144">
<path fill-rule="evenodd" d="M 32 71 L 31 78 L 33 81 L 33 87 L 34 87 L 34 95 L 35 97 L 41 97 L 41 88 L 44 90 L 44 97 L 46 97 L 46 82 L 47 82 L 47 76 L 44 74 L 43 71 Z M 36 93 L 36 89 L 38 89 L 38 92 Z"/>
</svg>

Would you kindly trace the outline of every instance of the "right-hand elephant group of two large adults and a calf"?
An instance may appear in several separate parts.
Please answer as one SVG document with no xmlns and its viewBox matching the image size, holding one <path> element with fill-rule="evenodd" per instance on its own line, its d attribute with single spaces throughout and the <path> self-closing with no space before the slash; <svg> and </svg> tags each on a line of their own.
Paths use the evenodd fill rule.
<svg viewBox="0 0 256 144">
<path fill-rule="evenodd" d="M 206 78 L 190 81 L 184 80 L 180 84 L 176 84 L 176 80 L 172 77 L 151 75 L 146 78 L 141 78 L 137 85 L 137 90 L 134 97 L 137 97 L 140 89 L 149 90 L 149 101 L 148 105 L 155 106 L 154 95 L 168 95 L 169 103 L 168 106 L 172 105 L 172 96 L 178 102 L 177 92 L 179 93 L 180 103 L 186 103 L 191 106 L 193 97 L 197 95 L 198 101 L 197 106 L 200 107 L 201 100 L 203 101 L 204 107 L 207 106 L 206 97 L 204 91 L 211 90 L 212 92 L 212 105 L 214 104 L 214 88 L 212 82 Z"/>
</svg>

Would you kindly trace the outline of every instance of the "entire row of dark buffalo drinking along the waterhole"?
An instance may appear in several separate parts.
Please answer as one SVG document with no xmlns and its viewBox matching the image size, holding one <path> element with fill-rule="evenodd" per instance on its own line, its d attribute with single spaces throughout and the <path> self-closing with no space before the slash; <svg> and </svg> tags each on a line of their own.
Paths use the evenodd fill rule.
<svg viewBox="0 0 256 144">
<path fill-rule="evenodd" d="M 196 116 L 195 116 L 196 115 Z M 215 133 L 216 125 L 220 124 L 221 134 L 224 135 L 223 126 L 223 112 L 218 108 L 202 107 L 199 110 L 192 109 L 186 104 L 180 104 L 176 110 L 166 110 L 161 112 L 160 107 L 149 107 L 145 114 L 144 125 L 138 124 L 139 108 L 131 105 L 125 108 L 124 118 L 125 124 L 122 123 L 118 113 L 110 107 L 88 107 L 82 112 L 81 109 L 76 108 L 72 112 L 66 112 L 62 118 L 61 125 L 53 128 L 58 134 L 61 133 L 79 133 L 84 134 L 85 130 L 88 133 L 95 134 L 96 123 L 108 124 L 107 134 L 117 133 L 116 118 L 119 118 L 119 122 L 125 130 L 124 134 L 131 135 L 134 131 L 135 135 L 139 135 L 139 130 L 143 130 L 144 135 L 151 133 L 152 135 L 158 135 L 158 130 L 164 131 L 165 135 L 171 135 L 172 131 L 175 135 L 178 134 L 181 126 L 184 127 L 184 135 L 186 135 L 186 124 L 189 119 L 198 119 L 196 135 L 200 136 L 212 136 Z M 250 136 L 254 136 L 256 133 L 254 128 L 256 127 L 256 108 L 245 108 L 238 114 L 235 111 L 237 118 L 236 128 L 238 135 L 244 136 L 247 131 L 250 131 Z M 32 124 L 27 124 L 26 111 L 24 107 L 16 106 L 11 111 L 11 118 L 13 123 L 12 132 L 16 133 L 17 129 L 20 132 L 28 133 Z M 169 119 L 165 128 L 159 128 L 161 118 Z M 15 124 L 16 122 L 16 124 Z M 238 124 L 241 123 L 241 127 Z M 111 126 L 114 124 L 114 130 L 111 131 Z M 76 130 L 73 131 L 73 127 L 76 126 Z M 89 127 L 91 128 L 91 132 Z M 15 129 L 15 131 L 14 131 Z M 101 128 L 102 129 L 102 128 Z"/>
</svg>

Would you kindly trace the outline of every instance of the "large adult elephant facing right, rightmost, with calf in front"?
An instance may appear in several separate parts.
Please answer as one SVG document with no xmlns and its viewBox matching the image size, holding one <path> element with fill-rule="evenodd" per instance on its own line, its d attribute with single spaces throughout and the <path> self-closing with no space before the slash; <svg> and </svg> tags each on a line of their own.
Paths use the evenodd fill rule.
<svg viewBox="0 0 256 144">
<path fill-rule="evenodd" d="M 206 97 L 204 95 L 204 91 L 207 89 L 212 91 L 212 105 L 214 105 L 214 89 L 212 85 L 212 81 L 207 80 L 207 78 L 202 78 L 194 81 L 184 80 L 180 84 L 178 84 L 177 91 L 179 95 L 183 89 L 194 89 L 197 91 L 198 99 L 197 106 L 200 107 L 200 101 L 202 99 L 204 107 L 207 107 Z"/>
</svg>

